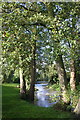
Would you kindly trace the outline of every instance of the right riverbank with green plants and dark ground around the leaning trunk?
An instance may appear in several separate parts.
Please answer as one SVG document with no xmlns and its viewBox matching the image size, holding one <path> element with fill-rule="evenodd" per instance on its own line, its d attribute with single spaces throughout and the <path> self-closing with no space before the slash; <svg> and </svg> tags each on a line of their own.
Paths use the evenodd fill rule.
<svg viewBox="0 0 80 120">
<path fill-rule="evenodd" d="M 57 93 L 55 94 L 55 97 L 53 97 L 53 101 L 57 100 L 56 96 L 60 96 L 61 92 L 60 92 L 60 86 L 59 83 L 56 84 L 49 84 L 48 89 L 51 89 L 53 91 L 57 91 Z M 54 108 L 60 108 L 60 109 L 66 109 L 67 111 L 73 111 L 78 103 L 78 99 L 80 97 L 80 85 L 76 86 L 76 90 L 75 91 L 71 91 L 70 86 L 68 85 L 68 89 L 67 89 L 67 95 L 68 95 L 68 99 L 70 100 L 70 103 L 68 105 L 63 105 L 63 102 L 60 100 L 60 102 L 56 105 L 54 105 Z M 55 107 L 56 106 L 56 107 Z"/>
</svg>

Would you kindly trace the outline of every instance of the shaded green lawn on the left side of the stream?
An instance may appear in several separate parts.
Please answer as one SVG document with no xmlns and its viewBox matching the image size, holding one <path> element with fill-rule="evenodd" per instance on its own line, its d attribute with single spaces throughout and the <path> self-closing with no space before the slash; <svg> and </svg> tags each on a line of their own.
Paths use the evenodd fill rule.
<svg viewBox="0 0 80 120">
<path fill-rule="evenodd" d="M 54 110 L 54 107 L 39 107 L 28 101 L 21 100 L 16 84 L 2 86 L 2 117 L 4 118 L 72 118 L 67 111 Z"/>
</svg>

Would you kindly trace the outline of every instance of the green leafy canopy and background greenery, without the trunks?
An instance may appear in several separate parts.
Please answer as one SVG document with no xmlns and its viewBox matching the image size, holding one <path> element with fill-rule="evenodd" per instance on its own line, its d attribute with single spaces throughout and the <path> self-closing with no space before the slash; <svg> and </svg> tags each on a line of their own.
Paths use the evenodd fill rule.
<svg viewBox="0 0 80 120">
<path fill-rule="evenodd" d="M 30 83 L 34 42 L 37 48 L 37 79 L 50 81 L 53 76 L 53 82 L 58 80 L 58 73 L 51 65 L 59 55 L 63 57 L 67 73 L 70 73 L 70 60 L 75 61 L 76 74 L 79 73 L 79 9 L 78 3 L 3 2 L 4 81 L 15 82 L 19 77 L 15 71 L 22 67 L 25 79 Z M 14 71 L 14 76 L 11 71 Z M 59 89 L 56 86 L 54 88 Z"/>
</svg>

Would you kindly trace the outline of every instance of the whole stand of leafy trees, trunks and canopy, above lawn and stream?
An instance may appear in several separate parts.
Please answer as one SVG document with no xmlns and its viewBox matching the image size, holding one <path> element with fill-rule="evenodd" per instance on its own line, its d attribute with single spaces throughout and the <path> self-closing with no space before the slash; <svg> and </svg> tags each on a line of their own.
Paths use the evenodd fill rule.
<svg viewBox="0 0 80 120">
<path fill-rule="evenodd" d="M 35 83 L 58 84 L 80 115 L 80 2 L 3 2 L 2 75 L 34 101 Z"/>
</svg>

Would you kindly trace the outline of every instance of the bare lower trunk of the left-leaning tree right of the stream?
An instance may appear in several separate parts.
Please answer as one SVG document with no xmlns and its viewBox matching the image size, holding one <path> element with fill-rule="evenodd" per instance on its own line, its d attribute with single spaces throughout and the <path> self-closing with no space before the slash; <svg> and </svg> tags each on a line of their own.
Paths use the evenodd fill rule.
<svg viewBox="0 0 80 120">
<path fill-rule="evenodd" d="M 57 72 L 59 77 L 59 84 L 61 88 L 61 99 L 65 102 L 69 102 L 69 98 L 67 97 L 67 77 L 66 77 L 66 71 L 64 68 L 64 63 L 62 59 L 62 55 L 58 55 L 56 60 L 57 65 Z"/>
</svg>

